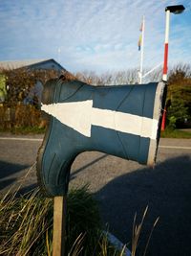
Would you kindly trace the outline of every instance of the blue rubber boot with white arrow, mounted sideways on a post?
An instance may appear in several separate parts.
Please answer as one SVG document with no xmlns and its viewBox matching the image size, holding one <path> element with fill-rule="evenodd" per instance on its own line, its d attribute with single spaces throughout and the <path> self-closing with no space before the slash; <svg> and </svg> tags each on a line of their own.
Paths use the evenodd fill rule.
<svg viewBox="0 0 191 256">
<path fill-rule="evenodd" d="M 102 151 L 153 166 L 159 145 L 166 86 L 92 86 L 48 81 L 42 110 L 49 124 L 37 156 L 37 176 L 46 196 L 64 196 L 71 166 L 82 151 Z"/>
</svg>

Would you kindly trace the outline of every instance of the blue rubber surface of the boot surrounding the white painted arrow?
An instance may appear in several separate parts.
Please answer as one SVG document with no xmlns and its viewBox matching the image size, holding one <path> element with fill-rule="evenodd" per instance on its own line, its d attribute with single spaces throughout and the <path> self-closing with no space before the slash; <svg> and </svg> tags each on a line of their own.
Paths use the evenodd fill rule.
<svg viewBox="0 0 191 256">
<path fill-rule="evenodd" d="M 96 125 L 91 128 L 91 137 L 87 137 L 49 115 L 49 125 L 38 151 L 36 166 L 39 185 L 48 197 L 67 194 L 71 166 L 82 151 L 102 151 L 141 164 L 155 163 L 162 105 L 165 101 L 163 82 L 96 87 L 81 81 L 52 80 L 45 84 L 42 104 L 87 100 L 94 102 L 94 108 L 155 118 L 158 121 L 156 138 L 151 140 Z"/>
</svg>

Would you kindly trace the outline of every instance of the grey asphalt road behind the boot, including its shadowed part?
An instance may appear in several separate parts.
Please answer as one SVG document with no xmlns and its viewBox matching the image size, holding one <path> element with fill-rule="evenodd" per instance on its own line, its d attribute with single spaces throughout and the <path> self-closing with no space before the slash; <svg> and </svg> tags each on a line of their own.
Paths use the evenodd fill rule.
<svg viewBox="0 0 191 256">
<path fill-rule="evenodd" d="M 0 134 L 1 195 L 12 185 L 23 183 L 22 192 L 36 186 L 35 158 L 41 139 Z M 158 217 L 147 255 L 191 255 L 191 139 L 161 139 L 154 169 L 84 152 L 74 161 L 70 187 L 87 183 L 99 200 L 103 222 L 123 243 L 131 244 L 135 214 L 138 223 L 148 205 L 138 255 L 143 254 Z"/>
</svg>

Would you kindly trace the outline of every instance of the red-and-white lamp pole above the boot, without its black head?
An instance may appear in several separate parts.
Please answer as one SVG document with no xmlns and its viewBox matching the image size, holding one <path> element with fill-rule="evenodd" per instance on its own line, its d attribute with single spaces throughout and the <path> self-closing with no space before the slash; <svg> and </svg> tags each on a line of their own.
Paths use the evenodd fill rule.
<svg viewBox="0 0 191 256">
<path fill-rule="evenodd" d="M 170 11 L 166 11 L 166 25 L 165 25 L 165 41 L 164 41 L 164 62 L 162 80 L 167 81 L 168 72 L 168 41 L 169 41 L 169 27 L 170 27 Z"/>
</svg>

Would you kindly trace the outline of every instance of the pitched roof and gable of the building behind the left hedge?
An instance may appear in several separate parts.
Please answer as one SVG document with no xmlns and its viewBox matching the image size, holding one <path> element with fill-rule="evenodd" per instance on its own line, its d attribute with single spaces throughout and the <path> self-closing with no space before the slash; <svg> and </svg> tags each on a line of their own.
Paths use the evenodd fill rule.
<svg viewBox="0 0 191 256">
<path fill-rule="evenodd" d="M 57 71 L 66 71 L 66 69 L 53 58 L 0 61 L 0 69 L 18 69 L 23 67 L 30 69 L 54 69 Z"/>
</svg>

